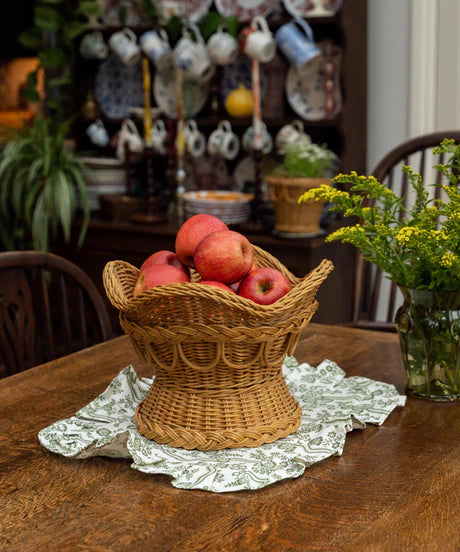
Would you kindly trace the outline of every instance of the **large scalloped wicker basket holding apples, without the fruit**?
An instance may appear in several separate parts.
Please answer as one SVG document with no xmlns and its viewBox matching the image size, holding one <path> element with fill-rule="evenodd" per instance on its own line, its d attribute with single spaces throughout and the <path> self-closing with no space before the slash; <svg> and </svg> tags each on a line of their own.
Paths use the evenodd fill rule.
<svg viewBox="0 0 460 552">
<path fill-rule="evenodd" d="M 156 377 L 136 411 L 142 435 L 186 449 L 256 447 L 293 433 L 301 409 L 281 367 L 318 307 L 328 260 L 296 278 L 254 246 L 258 266 L 281 270 L 292 290 L 272 305 L 192 283 L 133 297 L 138 269 L 107 263 L 104 286 L 120 324 Z M 193 272 L 193 271 L 192 271 Z"/>
</svg>

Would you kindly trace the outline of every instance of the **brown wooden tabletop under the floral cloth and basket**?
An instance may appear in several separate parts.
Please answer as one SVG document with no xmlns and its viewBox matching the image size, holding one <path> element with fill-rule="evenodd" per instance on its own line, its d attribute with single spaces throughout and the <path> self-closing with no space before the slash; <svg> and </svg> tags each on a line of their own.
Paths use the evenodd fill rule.
<svg viewBox="0 0 460 552">
<path fill-rule="evenodd" d="M 311 324 L 299 360 L 404 390 L 397 337 Z M 460 403 L 408 398 L 344 453 L 258 491 L 175 489 L 122 459 L 66 459 L 37 432 L 73 415 L 126 365 L 149 369 L 126 337 L 0 380 L 0 550 L 460 550 Z"/>
</svg>

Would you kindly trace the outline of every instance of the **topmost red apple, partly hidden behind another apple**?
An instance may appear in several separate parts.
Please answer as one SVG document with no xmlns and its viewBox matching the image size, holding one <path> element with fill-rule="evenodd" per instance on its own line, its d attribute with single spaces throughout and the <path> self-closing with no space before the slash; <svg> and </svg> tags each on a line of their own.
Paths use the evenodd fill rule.
<svg viewBox="0 0 460 552">
<path fill-rule="evenodd" d="M 193 255 L 200 241 L 217 230 L 228 230 L 227 225 L 214 215 L 193 215 L 179 228 L 176 235 L 176 255 L 179 261 L 193 266 Z"/>
</svg>

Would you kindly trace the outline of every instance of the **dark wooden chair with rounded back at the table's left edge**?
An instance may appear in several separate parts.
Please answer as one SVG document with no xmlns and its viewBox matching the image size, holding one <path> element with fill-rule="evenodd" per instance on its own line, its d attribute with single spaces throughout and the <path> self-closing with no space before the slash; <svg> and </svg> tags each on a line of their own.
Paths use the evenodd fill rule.
<svg viewBox="0 0 460 552">
<path fill-rule="evenodd" d="M 78 266 L 52 253 L 0 253 L 0 377 L 111 337 L 107 307 Z"/>
</svg>

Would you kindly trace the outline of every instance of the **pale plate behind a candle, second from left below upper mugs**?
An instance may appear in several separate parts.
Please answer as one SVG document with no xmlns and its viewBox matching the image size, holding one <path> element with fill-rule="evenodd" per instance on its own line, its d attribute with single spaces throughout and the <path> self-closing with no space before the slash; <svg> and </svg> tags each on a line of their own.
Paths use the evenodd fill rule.
<svg viewBox="0 0 460 552">
<path fill-rule="evenodd" d="M 195 117 L 209 96 L 210 81 L 184 80 L 184 116 Z M 155 73 L 153 96 L 158 107 L 170 119 L 177 117 L 176 72 L 173 69 Z"/>
</svg>

